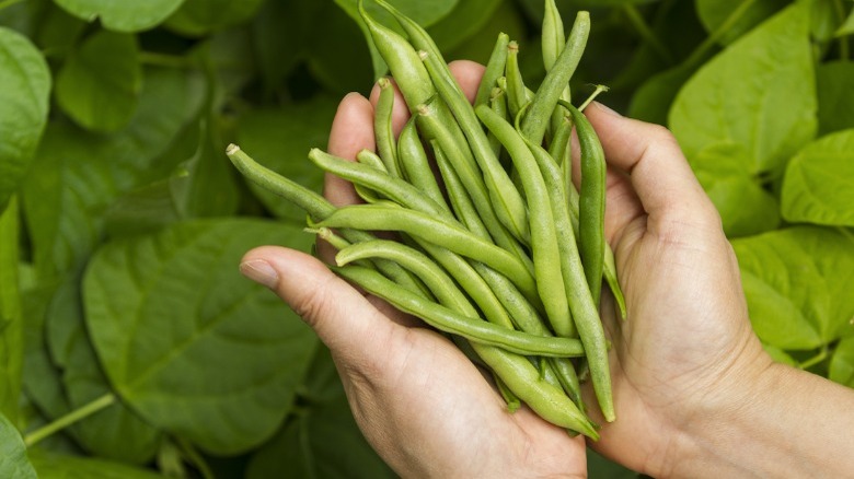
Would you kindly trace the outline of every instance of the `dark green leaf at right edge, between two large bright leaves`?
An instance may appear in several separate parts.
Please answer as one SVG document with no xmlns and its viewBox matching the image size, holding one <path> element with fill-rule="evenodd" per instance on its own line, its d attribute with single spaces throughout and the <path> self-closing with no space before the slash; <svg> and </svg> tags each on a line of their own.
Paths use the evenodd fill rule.
<svg viewBox="0 0 854 479">
<path fill-rule="evenodd" d="M 819 135 L 854 128 L 854 62 L 830 61 L 816 69 Z"/>
</svg>

